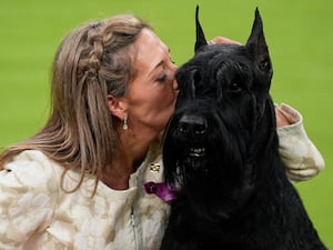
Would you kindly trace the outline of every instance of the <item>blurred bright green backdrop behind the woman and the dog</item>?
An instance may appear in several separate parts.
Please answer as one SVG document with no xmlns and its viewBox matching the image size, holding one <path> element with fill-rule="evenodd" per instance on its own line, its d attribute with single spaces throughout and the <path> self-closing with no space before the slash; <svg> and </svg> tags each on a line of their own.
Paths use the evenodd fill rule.
<svg viewBox="0 0 333 250">
<path fill-rule="evenodd" d="M 272 96 L 303 114 L 325 170 L 296 183 L 322 240 L 333 249 L 333 1 L 332 0 L 1 0 L 0 149 L 43 126 L 49 74 L 62 38 L 78 24 L 117 13 L 150 22 L 180 66 L 193 53 L 194 9 L 208 39 L 245 42 L 259 7 L 273 61 Z"/>
</svg>

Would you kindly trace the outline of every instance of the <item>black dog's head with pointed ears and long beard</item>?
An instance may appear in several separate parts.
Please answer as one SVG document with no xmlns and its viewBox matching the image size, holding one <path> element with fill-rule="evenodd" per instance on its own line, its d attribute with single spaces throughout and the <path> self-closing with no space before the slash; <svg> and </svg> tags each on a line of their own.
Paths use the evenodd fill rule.
<svg viewBox="0 0 333 250">
<path fill-rule="evenodd" d="M 241 189 L 275 126 L 262 20 L 256 9 L 245 46 L 209 46 L 198 7 L 195 21 L 195 56 L 176 72 L 180 92 L 165 131 L 165 181 L 193 192 L 230 184 Z"/>
</svg>

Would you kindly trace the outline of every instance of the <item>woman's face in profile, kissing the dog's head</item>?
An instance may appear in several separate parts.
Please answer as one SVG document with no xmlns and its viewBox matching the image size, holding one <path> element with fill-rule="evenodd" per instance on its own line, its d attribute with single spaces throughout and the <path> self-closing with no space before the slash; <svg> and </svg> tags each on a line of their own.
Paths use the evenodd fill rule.
<svg viewBox="0 0 333 250">
<path fill-rule="evenodd" d="M 169 48 L 149 29 L 141 31 L 134 51 L 135 78 L 130 82 L 125 96 L 129 128 L 139 131 L 150 129 L 159 133 L 174 110 L 176 67 Z"/>
</svg>

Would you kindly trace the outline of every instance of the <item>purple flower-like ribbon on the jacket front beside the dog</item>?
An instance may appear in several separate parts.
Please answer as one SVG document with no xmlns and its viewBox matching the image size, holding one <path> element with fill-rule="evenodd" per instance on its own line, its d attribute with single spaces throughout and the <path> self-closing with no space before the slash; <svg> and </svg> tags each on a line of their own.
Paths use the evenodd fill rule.
<svg viewBox="0 0 333 250">
<path fill-rule="evenodd" d="M 145 182 L 144 190 L 147 193 L 154 193 L 167 203 L 175 199 L 174 191 L 176 189 L 172 187 L 168 187 L 164 182 L 152 182 L 152 181 Z"/>
</svg>

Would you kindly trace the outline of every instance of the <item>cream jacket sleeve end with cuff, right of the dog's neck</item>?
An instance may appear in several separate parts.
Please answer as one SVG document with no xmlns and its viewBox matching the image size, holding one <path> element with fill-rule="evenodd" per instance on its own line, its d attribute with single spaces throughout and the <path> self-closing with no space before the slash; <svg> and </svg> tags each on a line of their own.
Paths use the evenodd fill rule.
<svg viewBox="0 0 333 250">
<path fill-rule="evenodd" d="M 291 122 L 278 128 L 279 152 L 291 181 L 304 181 L 315 177 L 324 168 L 324 159 L 307 137 L 301 113 L 282 103 L 278 107 Z"/>
</svg>

